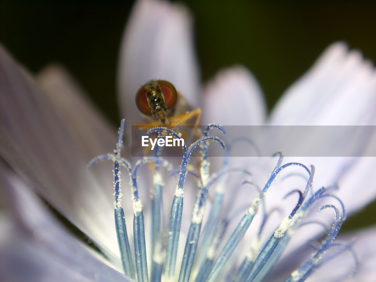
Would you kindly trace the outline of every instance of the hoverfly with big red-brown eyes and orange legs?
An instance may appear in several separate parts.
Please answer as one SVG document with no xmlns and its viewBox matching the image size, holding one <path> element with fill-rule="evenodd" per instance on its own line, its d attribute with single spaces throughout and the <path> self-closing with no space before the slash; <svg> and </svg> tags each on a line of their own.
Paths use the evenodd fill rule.
<svg viewBox="0 0 376 282">
<path fill-rule="evenodd" d="M 138 124 L 140 129 L 149 129 L 156 126 L 172 129 L 174 126 L 186 123 L 196 117 L 193 133 L 199 136 L 197 126 L 200 122 L 201 109 L 189 111 L 190 108 L 183 97 L 166 80 L 151 80 L 141 86 L 136 94 L 136 105 L 141 113 L 156 119 L 150 124 Z M 180 115 L 173 115 L 181 112 L 183 113 Z"/>
</svg>

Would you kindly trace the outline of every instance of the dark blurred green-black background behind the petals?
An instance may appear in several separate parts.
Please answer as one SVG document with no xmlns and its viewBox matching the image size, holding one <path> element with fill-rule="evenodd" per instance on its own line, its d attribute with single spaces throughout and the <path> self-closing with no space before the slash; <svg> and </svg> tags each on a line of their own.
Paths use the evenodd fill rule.
<svg viewBox="0 0 376 282">
<path fill-rule="evenodd" d="M 117 126 L 115 78 L 121 35 L 132 1 L 2 1 L 0 41 L 33 73 L 64 64 Z M 185 1 L 203 81 L 220 68 L 246 65 L 270 109 L 288 85 L 334 41 L 376 61 L 375 2 Z M 376 189 L 376 187 L 372 187 Z M 376 203 L 345 229 L 375 223 Z"/>
</svg>

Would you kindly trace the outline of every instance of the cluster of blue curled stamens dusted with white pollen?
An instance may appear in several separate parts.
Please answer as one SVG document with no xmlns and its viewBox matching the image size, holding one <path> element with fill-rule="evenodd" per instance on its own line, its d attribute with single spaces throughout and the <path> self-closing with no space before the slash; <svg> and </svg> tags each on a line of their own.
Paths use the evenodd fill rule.
<svg viewBox="0 0 376 282">
<path fill-rule="evenodd" d="M 121 121 L 118 142 L 115 146 L 114 153 L 97 156 L 88 164 L 88 168 L 94 163 L 111 160 L 114 162 L 114 188 L 115 188 L 115 226 L 117 232 L 118 245 L 121 254 L 121 262 L 123 264 L 124 273 L 139 282 L 160 282 L 161 280 L 174 280 L 179 282 L 214 282 L 219 280 L 229 280 L 232 282 L 256 282 L 263 281 L 265 276 L 271 271 L 282 253 L 291 241 L 295 231 L 300 226 L 310 223 L 317 223 L 316 221 L 305 221 L 312 206 L 319 200 L 324 198 L 335 199 L 341 206 L 340 210 L 332 205 L 326 204 L 321 206 L 319 212 L 323 209 L 331 208 L 335 211 L 334 223 L 330 228 L 326 228 L 326 235 L 324 240 L 315 248 L 314 253 L 308 258 L 299 268 L 294 270 L 285 281 L 304 281 L 311 273 L 313 273 L 324 262 L 329 261 L 345 250 L 351 250 L 352 243 L 342 244 L 334 242 L 338 231 L 340 230 L 343 221 L 346 218 L 345 209 L 340 199 L 332 194 L 329 194 L 333 187 L 322 187 L 313 192 L 312 181 L 314 177 L 314 166 L 310 168 L 297 162 L 290 162 L 282 165 L 282 153 L 276 153 L 273 157 L 277 157 L 278 161 L 271 171 L 267 183 L 262 189 L 258 188 L 255 183 L 247 179 L 241 185 L 251 185 L 256 191 L 256 197 L 252 204 L 243 212 L 238 224 L 233 224 L 235 214 L 226 214 L 226 207 L 224 204 L 223 186 L 228 190 L 228 176 L 233 173 L 241 173 L 250 178 L 251 173 L 245 169 L 229 168 L 229 148 L 226 149 L 225 161 L 223 167 L 217 173 L 210 174 L 210 161 L 208 159 L 209 141 L 216 141 L 225 149 L 223 141 L 218 137 L 209 136 L 210 129 L 218 129 L 225 135 L 226 130 L 217 124 L 210 124 L 203 132 L 203 137 L 197 139 L 190 147 L 186 144 L 183 146 L 183 158 L 179 168 L 174 169 L 173 166 L 166 160 L 159 157 L 159 147 L 156 147 L 155 156 L 144 157 L 139 159 L 135 165 L 132 165 L 126 159 L 122 158 L 120 151 L 123 148 L 123 131 L 124 120 Z M 147 133 L 156 132 L 157 136 L 170 134 L 175 138 L 180 136 L 171 129 L 165 127 L 156 127 L 150 129 Z M 200 168 L 199 171 L 189 164 L 190 156 L 196 147 L 200 147 Z M 231 147 L 231 146 L 228 146 Z M 153 184 L 151 190 L 151 277 L 149 278 L 149 269 L 147 264 L 147 246 L 145 239 L 145 225 L 143 215 L 143 205 L 138 194 L 138 178 L 137 171 L 141 165 L 150 164 L 153 170 Z M 121 180 L 119 168 L 124 167 L 130 176 L 131 199 L 133 203 L 133 243 L 134 256 L 132 259 L 132 252 L 129 243 L 129 236 L 127 234 L 126 223 L 124 219 L 124 211 L 121 204 Z M 269 237 L 263 236 L 264 227 L 266 226 L 268 218 L 273 211 L 265 211 L 265 195 L 269 190 L 271 184 L 276 180 L 277 175 L 283 170 L 291 167 L 299 167 L 306 175 L 306 184 L 303 191 L 293 190 L 285 197 L 292 194 L 298 195 L 298 201 L 294 205 L 290 214 L 288 214 L 281 223 L 270 233 Z M 161 169 L 167 168 L 170 174 L 178 174 L 176 189 L 173 195 L 171 205 L 170 217 L 168 226 L 161 227 L 162 222 L 162 190 L 164 188 L 164 179 L 162 177 Z M 179 250 L 179 238 L 182 234 L 182 213 L 183 213 L 183 192 L 187 174 L 192 174 L 197 180 L 197 197 L 194 201 L 193 213 L 191 216 L 190 227 L 186 233 L 186 242 L 184 249 Z M 215 190 L 214 196 L 211 200 L 211 207 L 206 218 L 205 228 L 202 230 L 202 223 L 208 199 L 209 188 L 217 183 L 218 187 Z M 235 189 L 234 189 L 235 191 Z M 308 195 L 310 192 L 310 196 Z M 236 193 L 236 192 L 233 192 Z M 260 209 L 260 207 L 264 209 Z M 238 252 L 237 248 L 241 240 L 246 235 L 250 224 L 256 217 L 260 215 L 261 224 L 259 225 L 256 235 L 251 242 L 246 242 L 249 251 L 244 255 L 244 258 L 238 261 L 238 256 L 233 255 Z M 186 223 L 183 223 L 186 224 Z M 232 230 L 230 226 L 235 225 Z M 229 236 L 226 234 L 230 234 Z M 265 237 L 265 238 L 264 238 Z M 337 247 L 335 252 L 327 250 Z M 179 253 L 182 253 L 180 260 Z M 179 259 L 178 259 L 179 258 Z M 181 261 L 180 270 L 177 270 L 176 264 Z M 150 264 L 150 262 L 149 262 Z M 178 264 L 179 265 L 179 264 Z M 221 278 L 222 277 L 222 278 Z"/>
</svg>

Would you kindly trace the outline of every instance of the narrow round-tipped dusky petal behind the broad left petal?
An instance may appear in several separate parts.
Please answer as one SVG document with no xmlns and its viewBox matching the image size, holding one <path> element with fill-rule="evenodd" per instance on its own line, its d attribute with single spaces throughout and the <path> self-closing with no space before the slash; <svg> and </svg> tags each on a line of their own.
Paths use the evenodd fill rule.
<svg viewBox="0 0 376 282">
<path fill-rule="evenodd" d="M 54 107 L 59 118 L 67 125 L 80 153 L 86 162 L 97 155 L 111 152 L 117 142 L 116 130 L 105 120 L 103 115 L 86 97 L 83 90 L 60 65 L 45 67 L 38 74 L 42 94 Z M 99 164 L 91 168 L 98 176 L 103 187 L 111 188 L 114 177 L 109 173 L 111 164 Z"/>
</svg>

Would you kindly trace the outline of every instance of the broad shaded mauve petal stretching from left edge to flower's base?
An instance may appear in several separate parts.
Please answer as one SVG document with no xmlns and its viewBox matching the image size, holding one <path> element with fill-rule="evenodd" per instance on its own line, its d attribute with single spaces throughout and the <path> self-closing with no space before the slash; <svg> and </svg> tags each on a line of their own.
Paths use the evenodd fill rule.
<svg viewBox="0 0 376 282">
<path fill-rule="evenodd" d="M 3 49 L 0 86 L 2 157 L 106 254 L 117 256 L 115 224 L 109 220 L 111 184 L 100 186 L 94 173 L 86 170 L 88 159 L 58 111 Z"/>
</svg>

